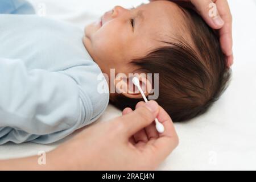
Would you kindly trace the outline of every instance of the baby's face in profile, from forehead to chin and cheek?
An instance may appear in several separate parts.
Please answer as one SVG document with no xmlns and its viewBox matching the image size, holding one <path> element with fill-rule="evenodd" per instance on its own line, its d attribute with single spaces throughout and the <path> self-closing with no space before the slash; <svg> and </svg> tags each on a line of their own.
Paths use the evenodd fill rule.
<svg viewBox="0 0 256 182">
<path fill-rule="evenodd" d="M 84 45 L 102 72 L 134 73 L 131 60 L 167 46 L 179 30 L 181 10 L 169 1 L 154 1 L 135 9 L 115 6 L 100 22 L 85 27 Z"/>
</svg>

